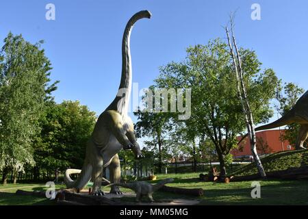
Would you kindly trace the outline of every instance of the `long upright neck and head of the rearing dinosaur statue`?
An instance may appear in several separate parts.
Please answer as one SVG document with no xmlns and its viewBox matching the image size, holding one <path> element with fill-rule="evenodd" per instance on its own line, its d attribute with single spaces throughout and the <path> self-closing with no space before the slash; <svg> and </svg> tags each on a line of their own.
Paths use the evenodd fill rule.
<svg viewBox="0 0 308 219">
<path fill-rule="evenodd" d="M 130 38 L 131 30 L 136 21 L 141 18 L 150 18 L 149 11 L 140 11 L 134 14 L 128 21 L 122 40 L 122 74 L 118 94 L 114 101 L 107 107 L 107 110 L 117 110 L 122 115 L 127 115 L 129 107 L 129 99 L 131 96 L 131 51 L 130 51 Z"/>
</svg>

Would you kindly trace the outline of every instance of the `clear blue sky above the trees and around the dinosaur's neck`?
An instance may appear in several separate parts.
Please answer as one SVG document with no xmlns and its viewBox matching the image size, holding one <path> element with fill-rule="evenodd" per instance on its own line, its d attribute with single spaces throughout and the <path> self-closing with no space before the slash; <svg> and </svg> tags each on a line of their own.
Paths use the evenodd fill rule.
<svg viewBox="0 0 308 219">
<path fill-rule="evenodd" d="M 55 5 L 55 21 L 45 19 L 45 5 Z M 251 19 L 251 5 L 261 6 L 261 20 Z M 264 68 L 283 81 L 308 90 L 308 1 L 183 0 L 27 0 L 1 1 L 0 39 L 12 31 L 26 40 L 44 40 L 60 80 L 55 100 L 79 100 L 100 114 L 116 95 L 121 71 L 121 40 L 128 19 L 150 10 L 131 35 L 133 82 L 146 88 L 159 66 L 185 58 L 185 48 L 224 38 L 229 13 L 237 10 L 235 34 L 241 47 L 257 51 Z M 2 43 L 1 43 L 2 44 Z M 136 121 L 136 118 L 133 118 Z"/>
</svg>

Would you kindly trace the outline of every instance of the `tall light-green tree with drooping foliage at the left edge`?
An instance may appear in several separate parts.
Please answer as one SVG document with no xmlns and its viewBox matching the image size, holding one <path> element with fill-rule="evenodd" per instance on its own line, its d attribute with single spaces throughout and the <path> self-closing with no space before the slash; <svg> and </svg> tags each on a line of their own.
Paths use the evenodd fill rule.
<svg viewBox="0 0 308 219">
<path fill-rule="evenodd" d="M 40 49 L 42 41 L 31 44 L 23 36 L 9 33 L 0 51 L 0 169 L 2 182 L 8 172 L 33 166 L 32 138 L 40 131 L 38 120 L 44 100 L 55 90 L 48 86 L 51 62 Z"/>
</svg>

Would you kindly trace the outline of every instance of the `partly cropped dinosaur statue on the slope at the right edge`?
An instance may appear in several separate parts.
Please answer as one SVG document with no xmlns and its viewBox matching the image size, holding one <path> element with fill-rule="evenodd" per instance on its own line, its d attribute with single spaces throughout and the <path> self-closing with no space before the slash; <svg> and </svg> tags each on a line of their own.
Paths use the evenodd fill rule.
<svg viewBox="0 0 308 219">
<path fill-rule="evenodd" d="M 305 149 L 303 144 L 308 137 L 308 91 L 305 92 L 303 96 L 300 96 L 300 99 L 298 99 L 294 107 L 292 107 L 289 112 L 273 123 L 255 128 L 255 131 L 273 129 L 283 125 L 290 125 L 291 123 L 300 124 L 300 130 L 298 131 L 295 145 L 296 150 Z M 243 136 L 240 142 L 242 142 L 242 140 L 247 136 L 248 134 Z M 240 144 L 240 142 L 238 144 Z"/>
</svg>

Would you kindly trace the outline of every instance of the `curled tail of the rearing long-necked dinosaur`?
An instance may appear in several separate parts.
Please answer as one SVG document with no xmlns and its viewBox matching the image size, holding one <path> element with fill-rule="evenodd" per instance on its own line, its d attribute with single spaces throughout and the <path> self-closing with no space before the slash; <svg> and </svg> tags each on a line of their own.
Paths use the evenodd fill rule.
<svg viewBox="0 0 308 219">
<path fill-rule="evenodd" d="M 77 173 L 79 173 L 79 177 L 77 178 L 77 180 L 73 181 L 73 179 L 70 178 L 70 175 Z M 64 175 L 64 183 L 67 188 L 77 188 L 78 190 L 82 190 L 90 181 L 91 175 L 92 166 L 85 162 L 81 170 L 67 169 Z"/>
</svg>

